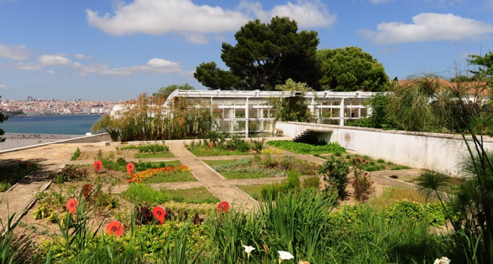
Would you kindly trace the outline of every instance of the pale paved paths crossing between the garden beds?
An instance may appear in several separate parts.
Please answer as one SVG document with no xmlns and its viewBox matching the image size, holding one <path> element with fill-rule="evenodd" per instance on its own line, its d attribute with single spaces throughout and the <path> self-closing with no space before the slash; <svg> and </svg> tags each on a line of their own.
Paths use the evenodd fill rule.
<svg viewBox="0 0 493 264">
<path fill-rule="evenodd" d="M 209 192 L 219 198 L 221 201 L 228 201 L 235 206 L 242 206 L 242 208 L 250 210 L 258 206 L 258 202 L 251 198 L 248 194 L 243 192 L 237 185 L 256 185 L 266 183 L 278 183 L 284 180 L 286 177 L 280 178 L 255 178 L 255 179 L 242 179 L 242 180 L 227 180 L 223 178 L 219 173 L 211 169 L 202 160 L 230 160 L 245 156 L 221 156 L 221 157 L 196 157 L 190 153 L 183 145 L 182 141 L 166 141 L 166 145 L 169 146 L 170 152 L 175 155 L 174 158 L 161 158 L 161 159 L 145 159 L 146 161 L 166 161 L 166 160 L 179 160 L 182 164 L 189 166 L 193 175 L 198 179 L 196 182 L 186 183 L 156 183 L 150 185 L 154 189 L 188 189 L 193 187 L 206 187 Z M 80 148 L 82 153 L 84 150 L 94 150 L 94 148 L 104 151 L 115 150 L 115 146 L 108 146 L 104 142 L 101 143 L 71 143 L 71 144 L 52 144 L 48 146 L 40 146 L 36 148 L 29 148 L 25 150 L 18 150 L 10 153 L 0 154 L 0 164 L 7 162 L 14 162 L 16 160 L 36 162 L 40 165 L 40 169 L 35 173 L 25 177 L 17 185 L 14 185 L 7 192 L 0 194 L 0 219 L 3 225 L 6 224 L 8 215 L 15 213 L 16 218 L 22 215 L 22 212 L 29 210 L 31 205 L 36 202 L 36 194 L 47 189 L 50 185 L 50 181 L 47 177 L 53 171 L 57 171 L 65 164 L 76 163 L 80 164 L 83 161 L 70 162 L 71 155 L 73 155 L 76 148 Z M 314 162 L 315 164 L 322 164 L 325 160 L 314 157 L 311 155 L 300 155 L 290 153 L 286 150 L 281 150 L 281 153 L 293 155 L 300 160 L 307 160 Z M 136 161 L 136 160 L 135 160 Z M 93 161 L 87 161 L 92 163 Z M 400 180 L 388 178 L 390 175 L 416 175 L 421 173 L 421 170 L 401 170 L 401 171 L 375 171 L 371 173 L 371 180 L 376 183 L 389 186 L 403 186 L 403 187 L 415 187 L 410 183 L 405 183 Z M 112 187 L 112 192 L 124 192 L 128 188 L 128 185 L 117 185 Z M 1 228 L 0 228 L 1 229 Z"/>
</svg>

